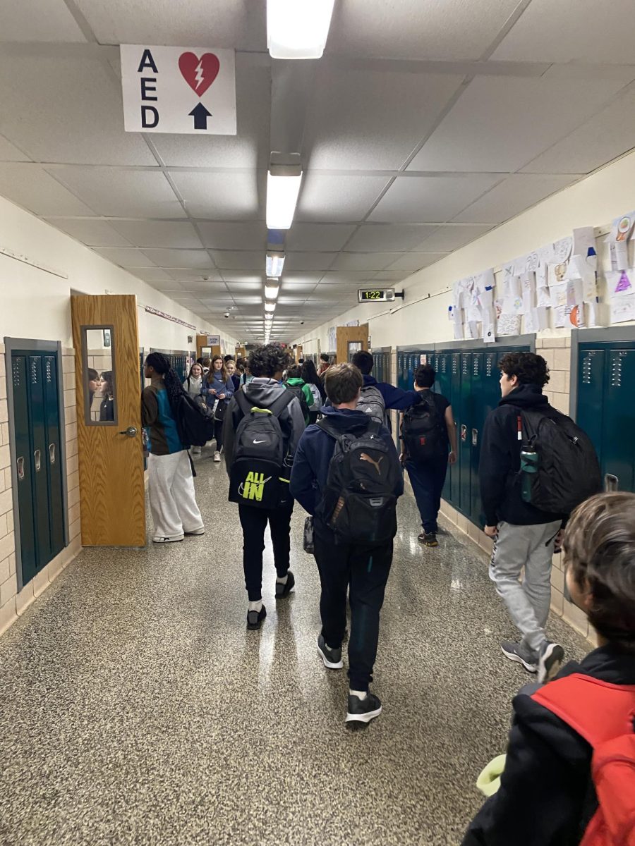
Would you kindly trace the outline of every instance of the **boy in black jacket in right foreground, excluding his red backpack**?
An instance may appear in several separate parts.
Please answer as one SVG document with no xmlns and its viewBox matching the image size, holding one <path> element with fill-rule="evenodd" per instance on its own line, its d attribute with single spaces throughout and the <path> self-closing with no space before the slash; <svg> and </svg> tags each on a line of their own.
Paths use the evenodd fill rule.
<svg viewBox="0 0 635 846">
<path fill-rule="evenodd" d="M 566 584 L 594 625 L 599 649 L 580 664 L 567 664 L 557 679 L 576 673 L 604 684 L 635 685 L 635 494 L 588 499 L 572 514 L 563 547 Z M 558 684 L 546 684 L 540 693 L 549 697 Z M 628 691 L 618 688 L 615 694 Z M 500 789 L 470 824 L 463 846 L 574 846 L 598 805 L 591 745 L 530 695 L 516 696 L 513 709 Z M 589 719 L 598 716 L 589 713 Z M 627 722 L 621 731 L 629 732 Z M 626 770 L 623 778 L 628 795 Z"/>
</svg>

